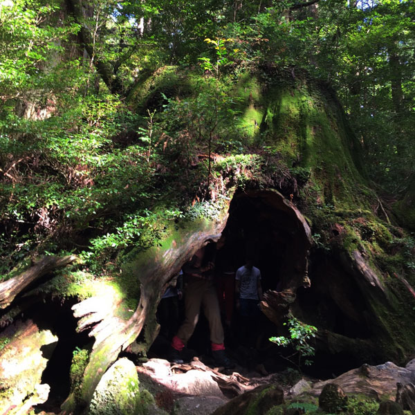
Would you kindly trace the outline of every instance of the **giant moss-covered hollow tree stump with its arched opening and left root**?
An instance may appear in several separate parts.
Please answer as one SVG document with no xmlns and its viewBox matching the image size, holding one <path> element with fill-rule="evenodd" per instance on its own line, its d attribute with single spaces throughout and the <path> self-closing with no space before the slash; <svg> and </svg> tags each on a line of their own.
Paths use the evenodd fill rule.
<svg viewBox="0 0 415 415">
<path fill-rule="evenodd" d="M 162 111 L 159 100 L 166 92 L 192 108 L 201 81 L 194 73 L 161 68 L 131 92 L 130 104 L 143 115 L 155 107 Z M 234 137 L 246 142 L 245 154 L 216 154 L 218 145 L 206 192 L 207 166 L 194 147 L 192 163 L 182 174 L 195 190 L 183 188 L 180 180 L 168 184 L 170 192 L 192 193 L 176 199 L 183 217 L 161 224 L 163 233 L 151 248 L 120 255 L 122 272 L 113 280 L 88 282 L 104 287 L 101 291 L 91 288 L 83 295 L 82 284 L 75 292 L 67 289 L 77 298 L 77 330 L 89 333 L 94 342 L 82 380 L 62 405 L 63 414 L 87 411 L 100 378 L 120 352 L 148 350 L 158 331 L 156 308 L 169 282 L 198 248 L 217 241 L 226 226 L 243 234 L 238 228 L 243 221 L 254 223 L 253 234 L 263 232 L 255 239 L 259 250 L 277 247 L 270 250 L 279 255 L 277 277 L 275 282 L 268 278 L 261 302 L 275 331 L 291 312 L 317 326 L 318 353 L 349 356 L 356 365 L 400 363 L 414 349 L 415 277 L 405 265 L 407 234 L 393 216 L 388 222 L 376 209 L 378 197 L 365 179 L 360 144 L 331 90 L 299 71 L 273 67 L 240 75 L 237 82 L 226 77 L 220 82 L 232 95 L 232 129 Z M 181 122 L 190 123 L 191 117 Z M 191 125 L 186 125 L 189 134 Z M 158 205 L 154 200 L 152 209 L 163 209 L 164 201 Z M 183 201 L 188 205 L 179 205 Z M 67 283 L 62 276 L 50 277 Z M 26 295 L 30 293 L 36 301 L 37 291 Z M 14 307 L 20 299 L 18 295 L 6 307 L 6 317 L 17 316 Z"/>
</svg>

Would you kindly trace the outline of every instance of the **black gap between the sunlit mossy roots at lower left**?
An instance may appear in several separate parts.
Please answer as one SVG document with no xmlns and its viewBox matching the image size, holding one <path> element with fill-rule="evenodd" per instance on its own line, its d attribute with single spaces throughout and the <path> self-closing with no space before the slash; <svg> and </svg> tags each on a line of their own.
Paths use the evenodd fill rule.
<svg viewBox="0 0 415 415">
<path fill-rule="evenodd" d="M 42 383 L 50 386 L 48 400 L 36 406 L 36 409 L 46 412 L 60 411 L 59 407 L 67 398 L 71 389 L 71 362 L 73 351 L 78 347 L 92 347 L 91 338 L 87 333 L 77 333 L 77 320 L 73 317 L 71 307 L 78 302 L 77 299 L 62 301 L 57 297 L 48 298 L 37 303 L 26 315 L 30 315 L 39 329 L 50 330 L 57 335 L 57 344 L 54 349 L 50 347 L 42 350 L 48 363 L 42 374 Z"/>
</svg>

